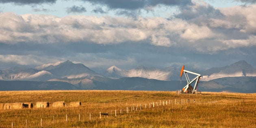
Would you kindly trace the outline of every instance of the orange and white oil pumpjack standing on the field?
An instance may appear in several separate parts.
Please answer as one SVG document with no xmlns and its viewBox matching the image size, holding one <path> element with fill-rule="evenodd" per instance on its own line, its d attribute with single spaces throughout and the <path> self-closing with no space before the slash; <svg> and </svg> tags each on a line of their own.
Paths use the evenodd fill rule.
<svg viewBox="0 0 256 128">
<path fill-rule="evenodd" d="M 181 77 L 184 73 L 185 77 L 186 77 L 186 80 L 187 80 L 187 85 L 185 87 L 183 87 L 182 90 L 177 90 L 176 91 L 176 94 L 181 94 L 181 93 L 192 93 L 192 94 L 201 94 L 201 91 L 197 91 L 197 88 L 198 88 L 198 83 L 199 83 L 199 80 L 201 78 L 201 75 L 200 74 L 197 74 L 195 72 L 190 72 L 190 71 L 187 71 L 187 70 L 184 70 L 184 65 L 182 66 L 181 68 L 181 71 L 180 71 L 180 80 L 181 80 Z M 188 76 L 188 73 L 190 74 L 194 74 L 196 75 L 195 78 L 193 78 L 192 80 L 189 79 L 189 76 Z M 195 86 L 192 87 L 191 84 L 195 82 Z"/>
</svg>

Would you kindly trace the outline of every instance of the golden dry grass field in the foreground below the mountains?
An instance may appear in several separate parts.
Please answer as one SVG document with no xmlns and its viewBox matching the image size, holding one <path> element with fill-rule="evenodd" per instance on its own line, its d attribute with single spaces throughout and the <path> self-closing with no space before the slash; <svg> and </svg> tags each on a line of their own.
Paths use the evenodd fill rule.
<svg viewBox="0 0 256 128">
<path fill-rule="evenodd" d="M 50 107 L 0 110 L 0 127 L 11 128 L 13 123 L 14 128 L 256 128 L 256 93 L 0 91 L 0 103 L 32 102 L 35 106 L 38 101 L 47 101 Z M 81 106 L 52 108 L 57 101 L 67 105 L 80 101 Z M 100 119 L 100 112 L 108 116 Z"/>
</svg>

